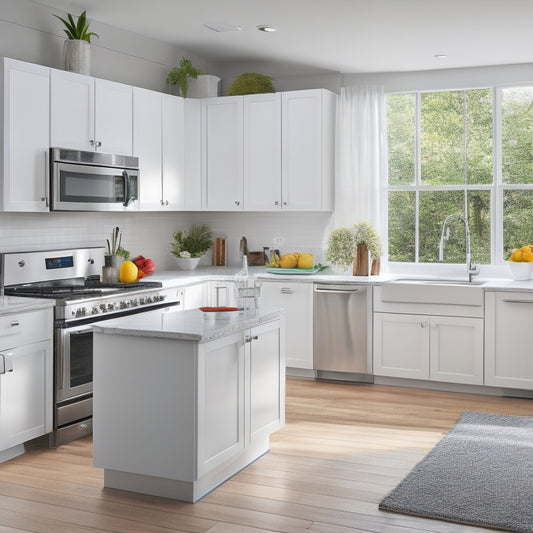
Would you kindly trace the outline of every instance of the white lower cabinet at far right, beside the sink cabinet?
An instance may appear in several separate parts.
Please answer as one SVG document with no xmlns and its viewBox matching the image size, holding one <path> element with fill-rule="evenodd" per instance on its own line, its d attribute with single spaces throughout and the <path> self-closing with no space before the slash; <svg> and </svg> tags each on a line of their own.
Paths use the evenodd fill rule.
<svg viewBox="0 0 533 533">
<path fill-rule="evenodd" d="M 485 293 L 485 384 L 533 389 L 533 294 Z"/>
</svg>

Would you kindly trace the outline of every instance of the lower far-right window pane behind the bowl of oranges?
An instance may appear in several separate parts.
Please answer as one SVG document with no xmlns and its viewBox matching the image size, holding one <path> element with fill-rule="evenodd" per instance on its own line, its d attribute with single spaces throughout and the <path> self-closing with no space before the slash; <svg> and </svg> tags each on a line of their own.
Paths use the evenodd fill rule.
<svg viewBox="0 0 533 533">
<path fill-rule="evenodd" d="M 533 191 L 503 192 L 503 254 L 533 244 Z"/>
</svg>

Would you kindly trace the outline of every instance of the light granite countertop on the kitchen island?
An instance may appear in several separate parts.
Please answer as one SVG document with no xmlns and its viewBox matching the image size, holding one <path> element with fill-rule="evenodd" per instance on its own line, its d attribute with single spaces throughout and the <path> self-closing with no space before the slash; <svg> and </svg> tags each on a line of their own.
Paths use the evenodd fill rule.
<svg viewBox="0 0 533 533">
<path fill-rule="evenodd" d="M 230 318 L 215 319 L 199 309 L 188 311 L 158 309 L 98 322 L 94 324 L 94 331 L 111 335 L 208 342 L 270 322 L 279 318 L 282 313 L 284 313 L 282 308 L 264 307 L 250 314 L 243 315 L 235 311 Z"/>
</svg>

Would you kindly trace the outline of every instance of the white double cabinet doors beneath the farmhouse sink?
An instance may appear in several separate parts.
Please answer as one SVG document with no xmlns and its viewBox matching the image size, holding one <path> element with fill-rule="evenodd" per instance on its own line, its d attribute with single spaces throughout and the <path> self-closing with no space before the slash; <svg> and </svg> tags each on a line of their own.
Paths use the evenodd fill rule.
<svg viewBox="0 0 533 533">
<path fill-rule="evenodd" d="M 374 374 L 483 384 L 483 319 L 374 313 Z"/>
</svg>

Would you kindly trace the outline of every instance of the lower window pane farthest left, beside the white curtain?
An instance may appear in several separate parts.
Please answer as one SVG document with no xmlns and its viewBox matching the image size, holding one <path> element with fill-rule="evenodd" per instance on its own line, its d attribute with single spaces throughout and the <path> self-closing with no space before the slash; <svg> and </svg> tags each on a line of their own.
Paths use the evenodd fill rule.
<svg viewBox="0 0 533 533">
<path fill-rule="evenodd" d="M 415 262 L 415 193 L 389 193 L 389 261 Z"/>
</svg>

